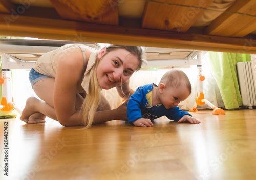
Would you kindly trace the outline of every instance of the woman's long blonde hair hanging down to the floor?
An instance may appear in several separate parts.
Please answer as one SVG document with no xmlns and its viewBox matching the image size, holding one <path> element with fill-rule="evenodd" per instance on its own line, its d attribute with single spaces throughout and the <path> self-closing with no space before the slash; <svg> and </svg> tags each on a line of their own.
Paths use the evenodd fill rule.
<svg viewBox="0 0 256 180">
<path fill-rule="evenodd" d="M 103 56 L 119 48 L 129 51 L 130 53 L 134 54 L 137 57 L 139 61 L 139 65 L 136 71 L 140 70 L 141 66 L 146 63 L 146 60 L 144 59 L 144 49 L 140 46 L 120 46 L 120 45 L 111 44 L 109 47 L 106 48 L 106 52 Z M 98 59 L 96 56 L 95 65 L 91 69 L 93 73 L 89 81 L 89 92 L 84 98 L 82 108 L 81 108 L 83 110 L 83 124 L 85 125 L 84 128 L 86 129 L 91 127 L 94 120 L 95 112 L 100 103 L 101 87 L 97 79 L 97 71 L 96 71 L 98 68 L 99 62 L 100 62 L 100 59 Z"/>
</svg>

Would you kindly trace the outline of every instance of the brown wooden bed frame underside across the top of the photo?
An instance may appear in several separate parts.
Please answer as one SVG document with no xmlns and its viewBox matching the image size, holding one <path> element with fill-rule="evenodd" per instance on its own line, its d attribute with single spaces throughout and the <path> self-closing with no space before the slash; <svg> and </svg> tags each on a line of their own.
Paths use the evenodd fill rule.
<svg viewBox="0 0 256 180">
<path fill-rule="evenodd" d="M 256 54 L 255 0 L 235 1 L 203 28 L 193 24 L 214 0 L 141 1 L 142 16 L 129 19 L 118 9 L 131 1 L 4 0 L 0 35 Z"/>
</svg>

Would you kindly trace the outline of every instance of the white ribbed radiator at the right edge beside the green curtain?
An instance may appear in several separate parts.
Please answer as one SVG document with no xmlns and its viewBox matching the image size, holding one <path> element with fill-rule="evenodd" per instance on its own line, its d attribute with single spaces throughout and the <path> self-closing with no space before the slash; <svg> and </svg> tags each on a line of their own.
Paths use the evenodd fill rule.
<svg viewBox="0 0 256 180">
<path fill-rule="evenodd" d="M 238 62 L 238 80 L 242 96 L 242 105 L 252 109 L 256 106 L 256 70 L 253 62 Z"/>
</svg>

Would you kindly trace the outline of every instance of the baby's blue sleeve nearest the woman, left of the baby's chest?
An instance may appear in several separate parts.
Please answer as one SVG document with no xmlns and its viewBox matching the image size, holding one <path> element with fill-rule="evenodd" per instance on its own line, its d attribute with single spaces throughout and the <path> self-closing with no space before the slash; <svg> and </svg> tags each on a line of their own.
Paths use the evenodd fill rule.
<svg viewBox="0 0 256 180">
<path fill-rule="evenodd" d="M 127 103 L 127 118 L 128 122 L 131 123 L 139 118 L 143 118 L 141 115 L 141 105 L 143 103 L 143 88 L 139 87 L 136 92 L 129 98 Z"/>
</svg>

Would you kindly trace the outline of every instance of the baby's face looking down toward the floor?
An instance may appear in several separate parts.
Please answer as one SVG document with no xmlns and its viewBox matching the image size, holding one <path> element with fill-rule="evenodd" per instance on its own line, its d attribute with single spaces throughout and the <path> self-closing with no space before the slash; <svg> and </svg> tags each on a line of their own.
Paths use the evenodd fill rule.
<svg viewBox="0 0 256 180">
<path fill-rule="evenodd" d="M 166 109 L 178 106 L 181 101 L 184 101 L 189 96 L 189 90 L 184 83 L 179 87 L 165 87 L 161 94 L 160 101 Z"/>
</svg>

